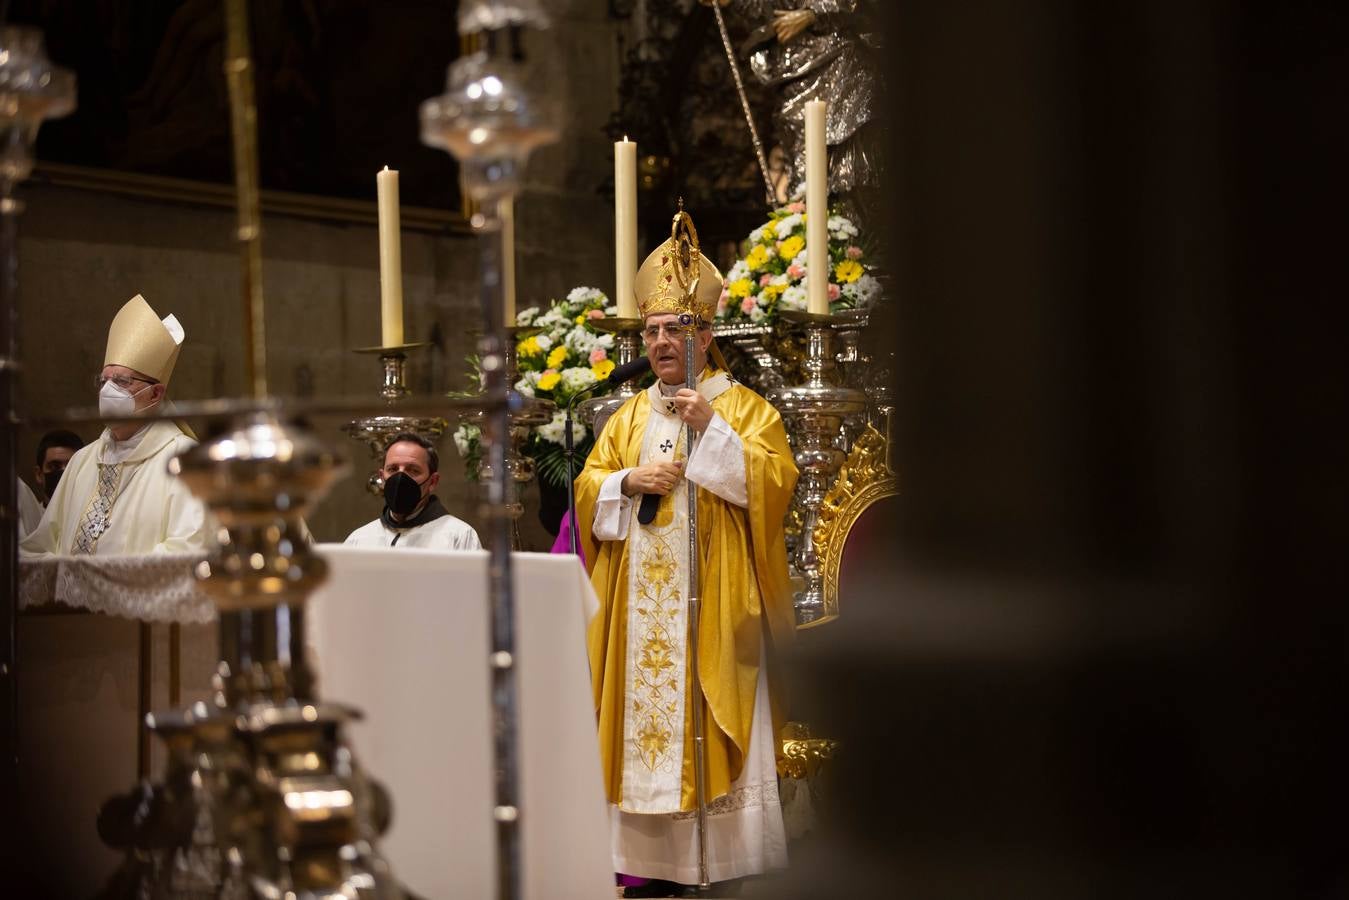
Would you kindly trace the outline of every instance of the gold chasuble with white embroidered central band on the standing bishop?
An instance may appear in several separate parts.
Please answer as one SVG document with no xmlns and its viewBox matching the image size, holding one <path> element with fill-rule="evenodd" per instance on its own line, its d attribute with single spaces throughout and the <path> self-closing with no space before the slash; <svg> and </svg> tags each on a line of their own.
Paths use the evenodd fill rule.
<svg viewBox="0 0 1349 900">
<path fill-rule="evenodd" d="M 639 524 L 629 510 L 626 537 L 596 538 L 606 479 L 649 461 L 688 457 L 683 422 L 658 389 L 653 385 L 614 413 L 576 479 L 576 521 L 600 598 L 587 645 L 604 784 L 619 810 L 643 814 L 696 806 L 685 491 L 697 490 L 703 579 L 697 671 L 707 696 L 708 800 L 727 795 L 745 768 L 765 665 L 777 746 L 786 710 L 772 656 L 792 640 L 795 627 L 782 530 L 796 486 L 786 430 L 768 401 L 724 372 L 706 370 L 699 393 L 724 420 L 722 428 L 728 425 L 739 439 L 747 505 L 737 506 L 681 478 L 661 498 L 650 524 Z M 711 430 L 696 440 L 710 440 Z M 703 464 L 701 456 L 697 461 Z M 728 468 L 738 479 L 741 466 Z"/>
</svg>

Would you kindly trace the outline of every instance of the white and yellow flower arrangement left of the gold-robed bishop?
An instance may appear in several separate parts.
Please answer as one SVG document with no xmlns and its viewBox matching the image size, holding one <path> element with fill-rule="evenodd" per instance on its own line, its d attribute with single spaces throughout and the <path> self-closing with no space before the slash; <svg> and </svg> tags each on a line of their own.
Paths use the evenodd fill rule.
<svg viewBox="0 0 1349 900">
<path fill-rule="evenodd" d="M 614 360 L 608 358 L 614 336 L 591 327 L 592 321 L 606 314 L 616 316 L 618 308 L 610 306 L 604 293 L 595 287 L 576 287 L 567 294 L 567 300 L 550 301 L 542 312 L 530 306 L 515 313 L 517 325 L 540 329 L 515 344 L 519 372 L 515 390 L 557 405 L 552 421 L 530 429 L 521 452 L 534 460 L 540 480 L 554 487 L 567 486 L 567 402 L 614 371 Z M 471 363 L 472 376 L 478 381 L 478 360 Z M 476 425 L 464 422 L 455 429 L 455 447 L 464 459 L 469 479 L 478 478 L 480 441 L 482 430 Z M 590 428 L 573 421 L 572 444 L 577 460 L 585 459 L 592 443 Z"/>
</svg>

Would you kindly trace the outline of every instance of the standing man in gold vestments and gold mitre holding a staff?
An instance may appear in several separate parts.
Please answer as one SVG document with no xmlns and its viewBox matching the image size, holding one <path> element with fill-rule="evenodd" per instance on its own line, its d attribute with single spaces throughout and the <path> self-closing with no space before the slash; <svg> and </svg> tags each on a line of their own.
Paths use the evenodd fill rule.
<svg viewBox="0 0 1349 900">
<path fill-rule="evenodd" d="M 615 869 L 693 884 L 693 715 L 707 735 L 710 878 L 786 862 L 774 652 L 793 631 L 782 519 L 796 466 L 777 410 L 707 363 L 719 273 L 700 260 L 697 294 L 681 301 L 670 252 L 662 244 L 637 277 L 660 381 L 608 420 L 576 479 L 576 502 L 602 602 L 588 650 Z M 685 387 L 681 302 L 699 320 L 696 391 Z M 692 449 L 685 425 L 696 432 Z M 701 712 L 689 680 L 688 490 L 697 491 Z M 660 499 L 643 524 L 645 494 Z"/>
</svg>

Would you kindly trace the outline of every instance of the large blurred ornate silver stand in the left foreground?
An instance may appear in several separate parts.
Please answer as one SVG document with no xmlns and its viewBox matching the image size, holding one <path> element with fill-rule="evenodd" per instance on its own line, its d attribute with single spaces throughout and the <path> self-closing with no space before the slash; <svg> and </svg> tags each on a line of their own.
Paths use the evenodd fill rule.
<svg viewBox="0 0 1349 900">
<path fill-rule="evenodd" d="M 328 565 L 302 517 L 345 463 L 258 412 L 170 468 L 221 526 L 197 568 L 220 609 L 217 708 L 193 715 L 217 843 L 259 896 L 398 896 L 374 846 L 382 797 L 341 735 L 356 712 L 318 702 L 305 658 L 305 602 Z"/>
</svg>

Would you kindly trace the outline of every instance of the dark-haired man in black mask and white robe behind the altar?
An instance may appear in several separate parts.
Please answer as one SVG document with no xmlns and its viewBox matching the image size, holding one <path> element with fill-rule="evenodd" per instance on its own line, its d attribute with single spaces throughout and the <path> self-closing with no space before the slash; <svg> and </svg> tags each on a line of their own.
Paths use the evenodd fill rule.
<svg viewBox="0 0 1349 900">
<path fill-rule="evenodd" d="M 384 510 L 347 536 L 348 546 L 422 546 L 480 551 L 478 532 L 436 497 L 440 453 L 421 434 L 394 434 L 384 448 Z"/>
</svg>

